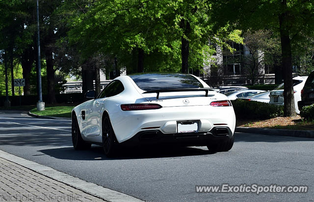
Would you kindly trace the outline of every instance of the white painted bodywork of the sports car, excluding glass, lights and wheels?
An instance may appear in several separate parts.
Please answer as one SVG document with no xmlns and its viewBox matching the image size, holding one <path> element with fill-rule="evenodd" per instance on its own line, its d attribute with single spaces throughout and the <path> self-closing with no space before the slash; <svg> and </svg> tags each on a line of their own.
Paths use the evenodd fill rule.
<svg viewBox="0 0 314 202">
<path fill-rule="evenodd" d="M 194 76 L 195 77 L 195 76 Z M 197 78 L 204 86 L 209 86 Z M 199 125 L 199 132 L 210 131 L 214 124 L 224 124 L 232 134 L 235 131 L 235 112 L 233 107 L 212 107 L 210 102 L 228 100 L 218 92 L 184 91 L 144 93 L 129 76 L 120 76 L 119 80 L 124 90 L 112 97 L 86 101 L 73 109 L 78 119 L 78 126 L 83 140 L 93 143 L 102 143 L 102 117 L 108 113 L 112 128 L 119 143 L 129 140 L 143 128 L 158 127 L 163 134 L 177 133 L 177 121 L 195 120 Z M 112 81 L 112 82 L 113 82 Z M 108 84 L 109 85 L 109 84 Z M 188 104 L 183 100 L 187 99 Z M 121 104 L 154 103 L 162 108 L 157 110 L 122 111 Z M 85 111 L 85 120 L 81 112 Z"/>
</svg>

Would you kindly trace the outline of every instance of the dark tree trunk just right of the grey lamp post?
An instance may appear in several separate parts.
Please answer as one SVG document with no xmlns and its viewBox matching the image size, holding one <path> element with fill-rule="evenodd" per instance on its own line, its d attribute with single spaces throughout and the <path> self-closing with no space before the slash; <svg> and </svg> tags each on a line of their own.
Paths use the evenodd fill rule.
<svg viewBox="0 0 314 202">
<path fill-rule="evenodd" d="M 45 58 L 47 67 L 47 91 L 48 91 L 48 103 L 55 104 L 55 90 L 54 90 L 54 69 L 53 69 L 53 57 L 52 49 L 45 47 Z"/>
</svg>

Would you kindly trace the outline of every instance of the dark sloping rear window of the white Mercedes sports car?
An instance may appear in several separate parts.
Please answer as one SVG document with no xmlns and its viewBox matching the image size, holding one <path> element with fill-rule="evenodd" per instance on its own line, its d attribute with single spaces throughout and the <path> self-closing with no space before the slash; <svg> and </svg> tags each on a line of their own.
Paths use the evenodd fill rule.
<svg viewBox="0 0 314 202">
<path fill-rule="evenodd" d="M 204 88 L 203 84 L 190 74 L 137 74 L 129 75 L 141 90 Z"/>
</svg>

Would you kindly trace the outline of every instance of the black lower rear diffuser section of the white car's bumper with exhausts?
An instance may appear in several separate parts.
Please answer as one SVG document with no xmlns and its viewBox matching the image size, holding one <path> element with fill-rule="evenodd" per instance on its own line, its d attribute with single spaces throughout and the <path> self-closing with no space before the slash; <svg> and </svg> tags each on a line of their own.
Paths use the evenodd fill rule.
<svg viewBox="0 0 314 202">
<path fill-rule="evenodd" d="M 122 146 L 135 145 L 180 145 L 180 146 L 207 146 L 221 143 L 232 138 L 233 133 L 229 127 L 214 127 L 209 132 L 187 134 L 164 134 L 159 130 L 141 131 L 121 143 Z"/>
</svg>

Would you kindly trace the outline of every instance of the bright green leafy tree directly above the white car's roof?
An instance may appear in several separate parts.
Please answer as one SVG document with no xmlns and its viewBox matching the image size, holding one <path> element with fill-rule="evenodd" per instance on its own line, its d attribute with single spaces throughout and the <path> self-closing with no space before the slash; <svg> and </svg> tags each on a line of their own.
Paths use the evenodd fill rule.
<svg viewBox="0 0 314 202">
<path fill-rule="evenodd" d="M 70 42 L 78 46 L 83 58 L 98 51 L 117 57 L 129 73 L 200 68 L 209 40 L 228 36 L 226 29 L 212 30 L 210 7 L 203 0 L 84 2 L 79 12 L 72 12 Z"/>
</svg>

